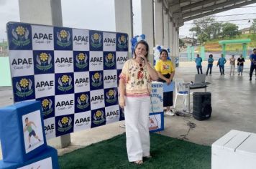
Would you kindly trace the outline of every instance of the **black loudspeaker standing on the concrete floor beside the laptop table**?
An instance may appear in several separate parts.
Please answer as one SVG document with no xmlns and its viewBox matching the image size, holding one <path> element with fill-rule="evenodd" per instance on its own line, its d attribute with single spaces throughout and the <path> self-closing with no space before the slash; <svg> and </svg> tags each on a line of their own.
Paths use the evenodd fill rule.
<svg viewBox="0 0 256 169">
<path fill-rule="evenodd" d="M 206 120 L 211 117 L 211 93 L 193 93 L 193 117 L 196 120 Z"/>
</svg>

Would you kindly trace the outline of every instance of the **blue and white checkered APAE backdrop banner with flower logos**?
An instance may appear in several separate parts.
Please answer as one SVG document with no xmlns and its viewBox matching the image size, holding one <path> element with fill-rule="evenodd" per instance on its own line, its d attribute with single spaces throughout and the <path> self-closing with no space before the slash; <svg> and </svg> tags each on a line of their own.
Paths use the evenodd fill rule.
<svg viewBox="0 0 256 169">
<path fill-rule="evenodd" d="M 14 102 L 39 100 L 46 138 L 124 120 L 117 81 L 128 35 L 9 22 Z"/>
</svg>

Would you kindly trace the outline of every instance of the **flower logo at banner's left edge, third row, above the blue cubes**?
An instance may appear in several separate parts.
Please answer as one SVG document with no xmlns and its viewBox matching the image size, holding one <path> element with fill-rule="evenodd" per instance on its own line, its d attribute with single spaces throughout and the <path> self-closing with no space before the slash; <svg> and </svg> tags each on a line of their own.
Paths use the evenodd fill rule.
<svg viewBox="0 0 256 169">
<path fill-rule="evenodd" d="M 28 97 L 34 92 L 32 90 L 32 80 L 22 78 L 19 82 L 16 82 L 16 95 L 19 97 Z"/>
</svg>

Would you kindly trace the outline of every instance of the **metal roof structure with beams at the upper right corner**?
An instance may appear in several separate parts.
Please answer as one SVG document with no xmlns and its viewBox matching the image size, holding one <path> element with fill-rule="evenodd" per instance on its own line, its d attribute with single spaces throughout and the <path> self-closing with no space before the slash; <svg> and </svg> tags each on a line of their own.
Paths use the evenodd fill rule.
<svg viewBox="0 0 256 169">
<path fill-rule="evenodd" d="M 165 10 L 169 9 L 170 16 L 178 26 L 183 26 L 185 21 L 254 3 L 255 0 L 163 0 Z"/>
</svg>

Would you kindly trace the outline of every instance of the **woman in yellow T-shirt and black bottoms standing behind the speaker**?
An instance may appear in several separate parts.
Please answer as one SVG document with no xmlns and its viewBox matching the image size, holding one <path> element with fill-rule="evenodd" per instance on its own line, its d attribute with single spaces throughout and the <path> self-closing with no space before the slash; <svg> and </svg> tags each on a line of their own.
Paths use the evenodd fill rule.
<svg viewBox="0 0 256 169">
<path fill-rule="evenodd" d="M 173 63 L 167 59 L 168 52 L 163 49 L 160 52 L 160 59 L 155 64 L 155 70 L 158 73 L 158 82 L 166 82 L 168 85 L 173 81 L 175 69 Z M 170 106 L 173 106 L 173 91 L 163 93 L 163 107 L 166 107 L 166 115 L 174 115 L 170 110 Z"/>
</svg>

